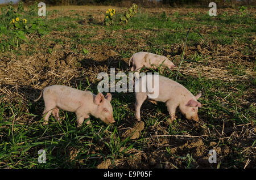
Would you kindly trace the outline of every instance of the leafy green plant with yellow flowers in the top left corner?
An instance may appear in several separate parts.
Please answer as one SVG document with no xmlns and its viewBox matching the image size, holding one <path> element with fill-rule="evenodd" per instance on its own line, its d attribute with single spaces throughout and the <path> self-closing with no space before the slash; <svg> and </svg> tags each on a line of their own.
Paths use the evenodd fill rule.
<svg viewBox="0 0 256 180">
<path fill-rule="evenodd" d="M 24 11 L 22 1 L 17 10 L 9 3 L 1 8 L 0 15 L 0 51 L 5 52 L 13 48 L 19 48 L 23 42 L 28 42 L 26 34 L 34 33 L 39 36 L 46 35 L 47 27 L 41 18 L 29 16 L 37 10 L 37 4 L 32 5 L 28 12 Z M 29 18 L 29 20 L 27 20 Z"/>
</svg>

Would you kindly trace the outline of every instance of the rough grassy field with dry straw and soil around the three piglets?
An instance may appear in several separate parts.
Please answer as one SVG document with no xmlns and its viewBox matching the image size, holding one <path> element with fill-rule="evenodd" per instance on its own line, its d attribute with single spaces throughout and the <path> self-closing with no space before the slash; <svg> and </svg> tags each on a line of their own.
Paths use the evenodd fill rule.
<svg viewBox="0 0 256 180">
<path fill-rule="evenodd" d="M 98 11 L 86 12 L 89 16 L 79 16 L 84 12 L 76 10 L 52 10 L 47 14 L 51 16 L 44 19 L 48 35 L 30 37 L 24 44 L 28 51 L 15 49 L 0 57 L 0 67 L 6 73 L 0 74 L 0 168 L 97 168 L 107 159 L 113 168 L 157 168 L 163 167 L 165 161 L 174 165 L 167 168 L 243 168 L 248 158 L 251 162 L 247 167 L 255 167 L 255 59 L 251 61 L 254 52 L 248 45 L 254 43 L 255 18 L 251 14 L 240 23 L 230 13 L 210 17 L 203 12 L 171 14 L 166 9 L 166 15 L 161 15 L 143 9 L 128 24 L 109 27 L 101 24 L 102 14 Z M 80 24 L 81 20 L 86 23 Z M 133 134 L 123 134 L 137 124 L 134 94 L 113 93 L 113 125 L 90 117 L 91 125 L 84 123 L 77 128 L 75 113 L 63 110 L 62 125 L 53 117 L 49 125 L 42 125 L 43 101 L 32 100 L 43 87 L 64 84 L 97 93 L 98 72 L 115 67 L 116 71 L 128 73 L 127 60 L 142 50 L 169 55 L 178 65 L 189 28 L 200 32 L 207 42 L 191 31 L 179 74 L 177 70 L 156 72 L 170 79 L 177 76 L 177 82 L 193 95 L 203 92 L 199 100 L 203 104 L 199 109 L 202 124 L 187 121 L 177 111 L 175 122 L 169 125 L 164 103 L 144 102 L 144 128 L 137 139 L 131 139 Z M 88 54 L 83 54 L 82 49 Z M 109 55 L 109 50 L 117 55 Z M 75 65 L 68 61 L 69 55 Z M 29 57 L 30 62 L 23 65 Z M 19 59 L 22 62 L 16 65 Z M 51 64 L 51 59 L 56 61 Z M 206 149 L 193 146 L 197 140 L 202 140 Z M 218 144 L 212 147 L 212 142 Z M 186 143 L 187 148 L 179 149 Z M 228 153 L 224 152 L 226 147 Z M 208 157 L 212 148 L 221 148 L 219 164 L 204 166 L 200 160 Z M 40 149 L 46 151 L 46 164 L 38 163 Z M 150 162 L 152 158 L 156 165 Z"/>
</svg>

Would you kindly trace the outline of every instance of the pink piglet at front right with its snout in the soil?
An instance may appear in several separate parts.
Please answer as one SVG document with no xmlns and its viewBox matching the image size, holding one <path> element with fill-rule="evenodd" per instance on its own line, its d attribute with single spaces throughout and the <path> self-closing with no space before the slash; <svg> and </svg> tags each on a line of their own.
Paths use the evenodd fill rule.
<svg viewBox="0 0 256 180">
<path fill-rule="evenodd" d="M 135 82 L 135 85 L 139 85 L 138 91 L 135 92 L 135 117 L 138 121 L 141 121 L 141 105 L 147 98 L 150 98 L 152 95 L 154 95 L 154 92 L 149 92 L 148 87 L 145 87 L 148 82 L 142 80 L 143 78 L 148 78 L 148 76 L 149 75 L 142 76 L 137 82 Z M 154 78 L 157 78 L 156 76 L 158 76 L 158 82 L 156 81 L 155 83 Z M 199 121 L 197 110 L 198 108 L 201 108 L 201 104 L 197 101 L 197 99 L 201 96 L 201 93 L 194 96 L 183 85 L 175 82 L 174 80 L 159 75 L 152 75 L 152 87 L 158 87 L 158 96 L 151 98 L 151 100 L 166 103 L 168 112 L 171 117 L 171 123 L 175 120 L 175 110 L 177 106 L 179 106 L 181 113 L 185 115 L 187 119 Z M 142 89 L 146 90 L 143 91 Z"/>
</svg>

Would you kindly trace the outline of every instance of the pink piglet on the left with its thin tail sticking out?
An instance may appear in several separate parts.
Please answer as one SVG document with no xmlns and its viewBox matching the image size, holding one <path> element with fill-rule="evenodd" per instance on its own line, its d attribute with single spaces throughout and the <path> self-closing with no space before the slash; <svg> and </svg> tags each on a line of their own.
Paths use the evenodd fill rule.
<svg viewBox="0 0 256 180">
<path fill-rule="evenodd" d="M 110 104 L 112 98 L 110 93 L 107 93 L 104 97 L 99 92 L 96 96 L 90 91 L 81 91 L 64 85 L 51 85 L 44 88 L 39 98 L 34 101 L 38 101 L 42 94 L 45 106 L 43 111 L 44 125 L 48 124 L 51 113 L 57 121 L 60 121 L 59 109 L 75 112 L 77 127 L 80 127 L 84 119 L 89 118 L 89 115 L 100 118 L 105 123 L 115 122 L 113 108 Z M 86 124 L 89 123 L 90 121 L 86 122 Z"/>
</svg>

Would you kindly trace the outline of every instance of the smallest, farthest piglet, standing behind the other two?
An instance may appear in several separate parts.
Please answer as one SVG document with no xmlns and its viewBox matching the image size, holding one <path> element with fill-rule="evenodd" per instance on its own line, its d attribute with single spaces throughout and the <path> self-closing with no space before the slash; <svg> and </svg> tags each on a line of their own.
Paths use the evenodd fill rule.
<svg viewBox="0 0 256 180">
<path fill-rule="evenodd" d="M 133 63 L 133 66 L 131 67 L 131 71 L 139 71 L 143 67 L 156 69 L 161 64 L 163 66 L 166 66 L 168 68 L 174 68 L 176 67 L 174 63 L 172 63 L 167 57 L 164 55 L 156 55 L 152 53 L 147 52 L 138 52 L 133 54 L 133 56 L 129 60 L 129 66 L 130 63 Z"/>
</svg>

